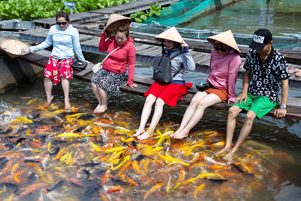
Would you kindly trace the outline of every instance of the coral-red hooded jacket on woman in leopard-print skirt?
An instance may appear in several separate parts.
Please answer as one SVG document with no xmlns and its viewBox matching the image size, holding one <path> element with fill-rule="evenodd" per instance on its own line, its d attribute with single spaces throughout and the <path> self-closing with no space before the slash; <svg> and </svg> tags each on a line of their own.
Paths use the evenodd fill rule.
<svg viewBox="0 0 301 201">
<path fill-rule="evenodd" d="M 106 41 L 107 35 L 101 34 L 98 50 L 104 52 L 107 50 L 107 54 L 116 49 L 119 45 L 115 40 L 115 36 L 112 36 L 111 42 L 109 39 Z M 134 72 L 135 72 L 135 60 L 136 60 L 136 48 L 134 46 L 133 39 L 127 40 L 124 44 L 120 45 L 120 48 L 113 52 L 107 60 L 104 62 L 103 68 L 105 71 L 112 73 L 124 73 L 126 72 L 127 65 L 129 64 L 129 79 L 127 84 L 133 85 Z"/>
</svg>

